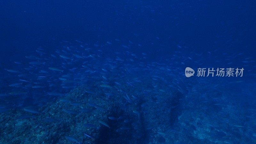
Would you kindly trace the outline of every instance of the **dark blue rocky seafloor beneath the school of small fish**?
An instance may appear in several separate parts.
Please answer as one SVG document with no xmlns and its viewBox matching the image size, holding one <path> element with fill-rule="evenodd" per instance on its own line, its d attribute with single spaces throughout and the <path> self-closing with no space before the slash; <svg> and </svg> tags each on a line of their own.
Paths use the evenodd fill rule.
<svg viewBox="0 0 256 144">
<path fill-rule="evenodd" d="M 134 76 L 133 85 L 122 77 L 109 79 L 110 85 L 94 81 L 56 97 L 38 114 L 23 109 L 1 113 L 0 143 L 256 142 L 250 134 L 255 129 L 247 125 L 252 120 L 228 100 L 232 92 L 206 87 L 206 82 L 180 88 L 174 76 L 152 73 Z M 121 85 L 112 84 L 116 79 Z"/>
</svg>

